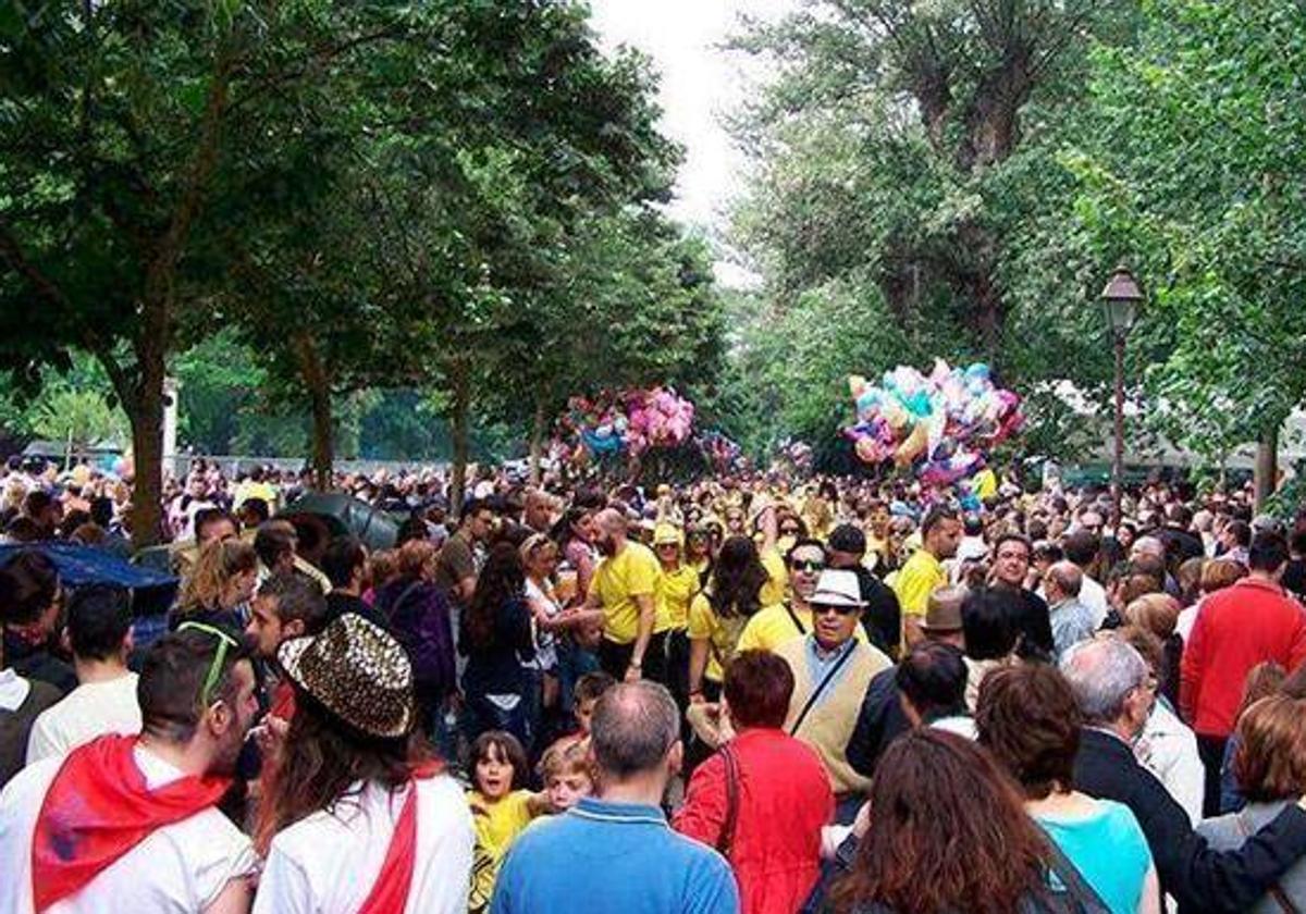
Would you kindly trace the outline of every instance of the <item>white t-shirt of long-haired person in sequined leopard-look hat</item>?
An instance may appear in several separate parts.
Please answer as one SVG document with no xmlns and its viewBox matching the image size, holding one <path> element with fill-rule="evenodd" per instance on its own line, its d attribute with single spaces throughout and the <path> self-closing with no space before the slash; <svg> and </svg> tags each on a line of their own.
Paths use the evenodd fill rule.
<svg viewBox="0 0 1306 914">
<path fill-rule="evenodd" d="M 464 914 L 471 885 L 471 811 L 441 774 L 417 782 L 417 863 L 406 914 Z M 349 799 L 278 832 L 253 914 L 354 914 L 372 892 L 407 790 L 355 783 Z"/>
</svg>

